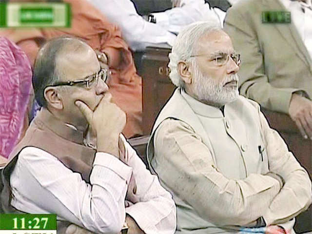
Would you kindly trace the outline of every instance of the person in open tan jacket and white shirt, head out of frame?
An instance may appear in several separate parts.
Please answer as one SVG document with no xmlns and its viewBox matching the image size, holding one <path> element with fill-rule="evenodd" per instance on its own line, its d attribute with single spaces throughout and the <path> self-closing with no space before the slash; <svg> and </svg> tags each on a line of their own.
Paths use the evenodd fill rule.
<svg viewBox="0 0 312 234">
<path fill-rule="evenodd" d="M 224 25 L 243 58 L 240 93 L 288 114 L 305 139 L 312 139 L 311 22 L 311 0 L 241 0 Z"/>
</svg>

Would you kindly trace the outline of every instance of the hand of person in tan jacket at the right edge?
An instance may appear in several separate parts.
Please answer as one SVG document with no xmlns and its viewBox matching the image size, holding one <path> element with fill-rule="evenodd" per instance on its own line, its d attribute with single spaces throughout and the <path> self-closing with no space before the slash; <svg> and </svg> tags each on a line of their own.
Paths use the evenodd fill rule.
<svg viewBox="0 0 312 234">
<path fill-rule="evenodd" d="M 302 137 L 312 139 L 312 101 L 292 94 L 289 115 L 296 123 Z"/>
</svg>

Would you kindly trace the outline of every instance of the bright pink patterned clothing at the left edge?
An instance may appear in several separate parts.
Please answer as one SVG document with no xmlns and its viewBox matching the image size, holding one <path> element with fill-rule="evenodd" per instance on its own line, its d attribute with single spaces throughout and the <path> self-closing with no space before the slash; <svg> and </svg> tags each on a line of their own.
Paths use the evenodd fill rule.
<svg viewBox="0 0 312 234">
<path fill-rule="evenodd" d="M 31 65 L 25 53 L 0 37 L 0 155 L 8 157 L 28 124 Z"/>
</svg>

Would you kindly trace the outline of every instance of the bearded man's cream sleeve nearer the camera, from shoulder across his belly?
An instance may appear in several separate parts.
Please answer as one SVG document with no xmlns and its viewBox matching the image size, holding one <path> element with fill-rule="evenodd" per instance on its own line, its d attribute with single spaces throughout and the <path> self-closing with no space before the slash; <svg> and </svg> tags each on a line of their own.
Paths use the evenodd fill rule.
<svg viewBox="0 0 312 234">
<path fill-rule="evenodd" d="M 279 182 L 271 176 L 251 174 L 240 180 L 223 176 L 210 149 L 180 120 L 164 120 L 154 145 L 159 179 L 217 226 L 251 225 L 280 191 Z"/>
</svg>

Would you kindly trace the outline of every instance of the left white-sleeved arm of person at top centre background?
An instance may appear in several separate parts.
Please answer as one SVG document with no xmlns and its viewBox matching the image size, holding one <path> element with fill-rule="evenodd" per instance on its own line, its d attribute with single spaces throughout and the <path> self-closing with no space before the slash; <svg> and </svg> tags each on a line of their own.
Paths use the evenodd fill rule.
<svg viewBox="0 0 312 234">
<path fill-rule="evenodd" d="M 89 0 L 111 22 L 122 30 L 122 36 L 134 51 L 145 49 L 146 43 L 173 45 L 176 35 L 137 14 L 131 0 Z"/>
</svg>

